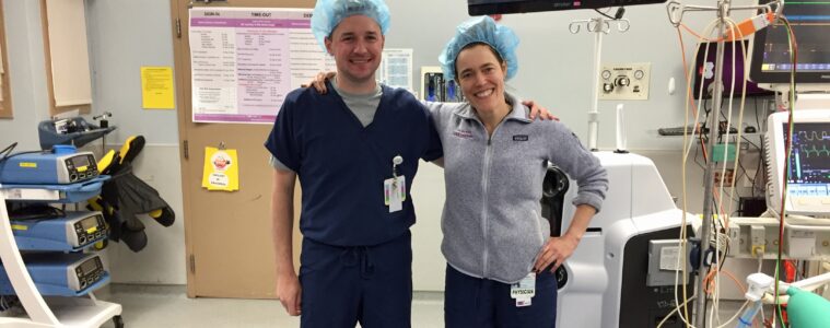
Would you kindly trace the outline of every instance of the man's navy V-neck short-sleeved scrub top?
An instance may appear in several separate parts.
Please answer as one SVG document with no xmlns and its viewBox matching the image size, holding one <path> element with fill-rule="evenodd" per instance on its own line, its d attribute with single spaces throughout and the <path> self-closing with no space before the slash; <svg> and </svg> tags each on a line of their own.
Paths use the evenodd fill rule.
<svg viewBox="0 0 830 328">
<path fill-rule="evenodd" d="M 265 145 L 297 173 L 303 236 L 336 246 L 377 245 L 401 236 L 416 221 L 409 194 L 418 159 L 443 155 L 428 109 L 412 94 L 383 85 L 374 120 L 365 128 L 328 84 L 329 92 L 289 93 Z M 393 157 L 404 163 L 404 209 L 389 213 L 384 180 Z"/>
</svg>

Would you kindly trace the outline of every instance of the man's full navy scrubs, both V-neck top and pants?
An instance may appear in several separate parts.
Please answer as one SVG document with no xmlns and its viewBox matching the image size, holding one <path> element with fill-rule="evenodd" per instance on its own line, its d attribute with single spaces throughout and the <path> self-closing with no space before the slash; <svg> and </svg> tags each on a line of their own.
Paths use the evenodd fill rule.
<svg viewBox="0 0 830 328">
<path fill-rule="evenodd" d="M 411 242 L 409 195 L 419 159 L 442 156 L 428 110 L 407 91 L 383 86 L 373 121 L 363 127 L 342 98 L 313 89 L 291 92 L 266 148 L 297 173 L 303 233 L 300 280 L 303 327 L 409 327 Z M 384 180 L 404 162 L 402 210 L 389 213 Z"/>
</svg>

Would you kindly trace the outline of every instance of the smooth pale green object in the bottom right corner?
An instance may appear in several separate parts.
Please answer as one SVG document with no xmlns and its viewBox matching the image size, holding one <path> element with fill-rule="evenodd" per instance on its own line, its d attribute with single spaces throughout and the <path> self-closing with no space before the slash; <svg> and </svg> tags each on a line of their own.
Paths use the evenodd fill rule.
<svg viewBox="0 0 830 328">
<path fill-rule="evenodd" d="M 790 327 L 827 328 L 830 327 L 830 301 L 791 286 L 786 290 L 790 301 L 786 305 Z"/>
</svg>

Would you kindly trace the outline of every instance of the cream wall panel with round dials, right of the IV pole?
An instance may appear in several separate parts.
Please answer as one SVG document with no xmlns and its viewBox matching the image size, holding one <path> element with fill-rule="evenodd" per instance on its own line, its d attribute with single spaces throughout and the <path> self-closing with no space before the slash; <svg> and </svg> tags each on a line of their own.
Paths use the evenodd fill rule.
<svg viewBox="0 0 830 328">
<path fill-rule="evenodd" d="M 604 63 L 599 68 L 600 101 L 647 101 L 652 63 Z"/>
</svg>

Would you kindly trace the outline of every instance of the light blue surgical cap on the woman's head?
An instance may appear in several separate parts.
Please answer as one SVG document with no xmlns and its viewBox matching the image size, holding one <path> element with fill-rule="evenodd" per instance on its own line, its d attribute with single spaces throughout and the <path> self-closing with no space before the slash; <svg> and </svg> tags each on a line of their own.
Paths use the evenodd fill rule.
<svg viewBox="0 0 830 328">
<path fill-rule="evenodd" d="M 439 55 L 441 69 L 446 79 L 455 80 L 455 60 L 458 58 L 458 52 L 467 45 L 475 43 L 488 44 L 499 52 L 499 56 L 507 65 L 506 80 L 516 75 L 518 71 L 518 60 L 516 59 L 518 36 L 513 33 L 513 30 L 495 24 L 495 21 L 490 16 L 480 16 L 467 20 L 458 25 L 455 36 Z"/>
</svg>

